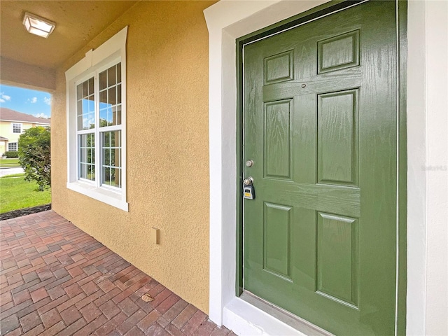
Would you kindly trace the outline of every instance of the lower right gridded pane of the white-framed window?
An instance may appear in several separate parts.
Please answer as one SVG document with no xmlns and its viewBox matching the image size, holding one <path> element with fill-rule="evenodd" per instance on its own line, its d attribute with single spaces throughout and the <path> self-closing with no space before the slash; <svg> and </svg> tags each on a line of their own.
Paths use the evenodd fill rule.
<svg viewBox="0 0 448 336">
<path fill-rule="evenodd" d="M 101 134 L 102 184 L 121 188 L 121 131 Z"/>
</svg>

